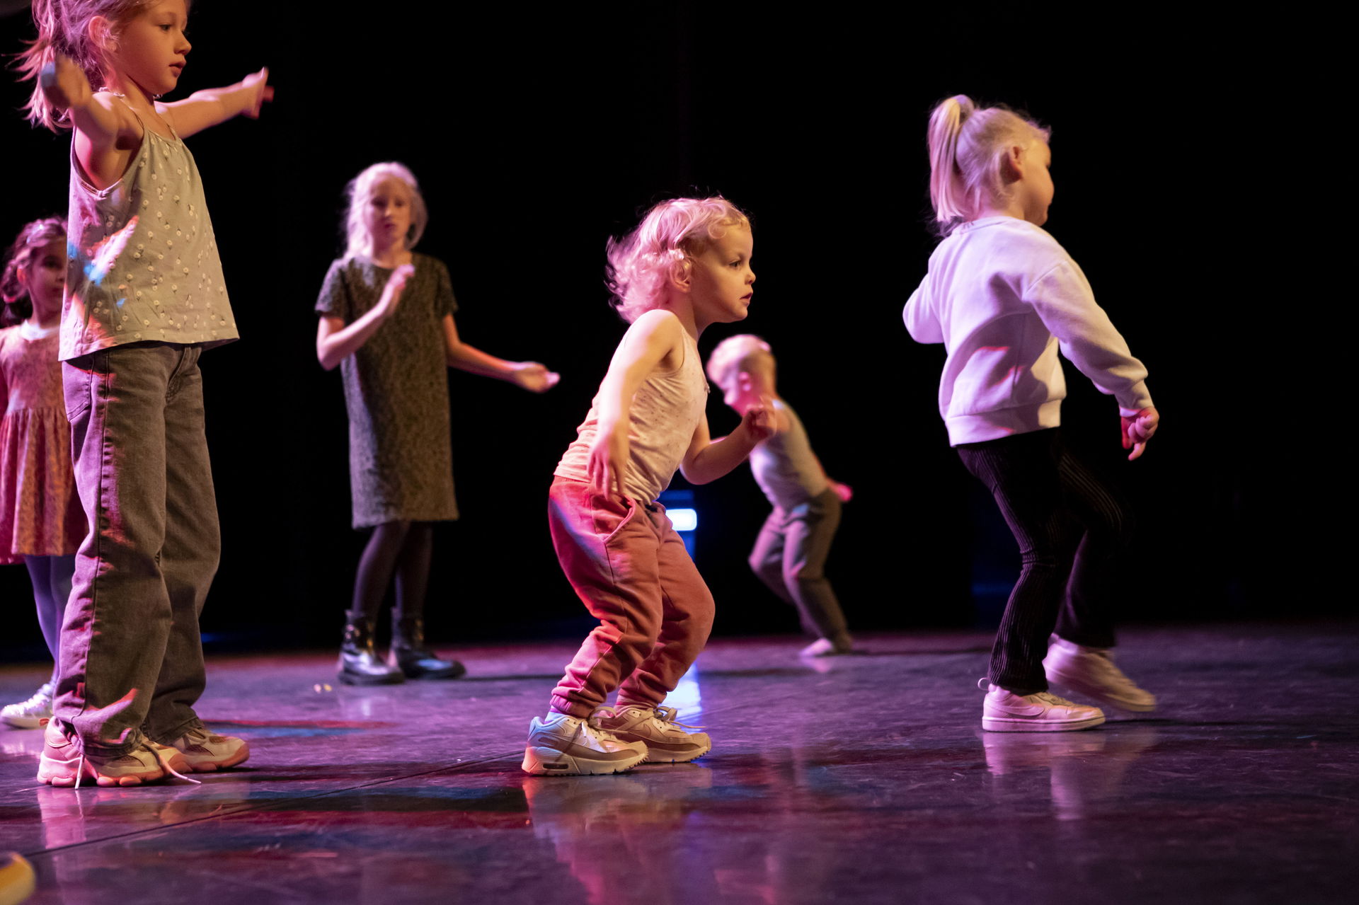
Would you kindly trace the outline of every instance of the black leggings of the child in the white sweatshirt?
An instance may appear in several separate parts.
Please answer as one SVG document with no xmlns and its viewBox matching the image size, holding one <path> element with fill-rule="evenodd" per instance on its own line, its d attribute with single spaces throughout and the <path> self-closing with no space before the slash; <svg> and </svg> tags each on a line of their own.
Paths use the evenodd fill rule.
<svg viewBox="0 0 1359 905">
<path fill-rule="evenodd" d="M 1109 595 L 1131 518 L 1057 428 L 965 443 L 958 457 L 995 496 L 1023 561 L 991 651 L 991 682 L 1021 694 L 1045 690 L 1053 628 L 1076 644 L 1114 644 Z"/>
</svg>

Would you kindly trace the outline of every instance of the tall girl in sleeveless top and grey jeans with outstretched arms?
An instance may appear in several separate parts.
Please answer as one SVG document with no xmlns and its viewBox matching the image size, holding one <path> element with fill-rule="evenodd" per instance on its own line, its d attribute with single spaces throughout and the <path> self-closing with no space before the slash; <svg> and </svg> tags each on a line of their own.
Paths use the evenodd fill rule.
<svg viewBox="0 0 1359 905">
<path fill-rule="evenodd" d="M 60 355 L 90 523 L 38 765 L 53 785 L 136 785 L 250 753 L 193 709 L 220 554 L 198 357 L 236 325 L 183 139 L 257 117 L 272 88 L 261 69 L 159 102 L 190 50 L 188 14 L 185 0 L 34 0 L 20 57 L 30 118 L 72 129 Z"/>
</svg>

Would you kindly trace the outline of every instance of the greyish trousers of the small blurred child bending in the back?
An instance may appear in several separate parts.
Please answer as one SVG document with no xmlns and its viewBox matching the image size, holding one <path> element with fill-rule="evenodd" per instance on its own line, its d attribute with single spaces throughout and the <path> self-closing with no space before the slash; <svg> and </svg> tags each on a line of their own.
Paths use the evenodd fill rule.
<svg viewBox="0 0 1359 905">
<path fill-rule="evenodd" d="M 798 607 L 807 635 L 844 645 L 849 643 L 845 616 L 825 571 L 839 527 L 840 497 L 832 489 L 791 510 L 775 507 L 750 550 L 750 568 Z"/>
</svg>

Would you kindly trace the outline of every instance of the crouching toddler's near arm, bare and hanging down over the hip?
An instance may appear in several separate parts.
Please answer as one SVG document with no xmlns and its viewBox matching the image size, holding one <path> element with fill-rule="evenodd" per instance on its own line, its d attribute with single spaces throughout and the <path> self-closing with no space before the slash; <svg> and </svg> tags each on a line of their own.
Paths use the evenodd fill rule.
<svg viewBox="0 0 1359 905">
<path fill-rule="evenodd" d="M 637 318 L 609 361 L 609 372 L 599 385 L 599 417 L 586 473 L 598 493 L 617 492 L 626 497 L 624 477 L 628 470 L 628 412 L 632 397 L 658 367 L 678 364 L 684 355 L 684 326 L 674 314 L 652 310 Z"/>
</svg>

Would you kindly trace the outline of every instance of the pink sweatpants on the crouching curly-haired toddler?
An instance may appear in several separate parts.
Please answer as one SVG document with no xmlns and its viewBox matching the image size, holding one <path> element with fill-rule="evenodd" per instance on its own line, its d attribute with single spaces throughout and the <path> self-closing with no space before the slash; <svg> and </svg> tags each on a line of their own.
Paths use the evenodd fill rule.
<svg viewBox="0 0 1359 905">
<path fill-rule="evenodd" d="M 616 688 L 620 705 L 658 707 L 707 644 L 713 611 L 665 507 L 559 477 L 548 523 L 561 571 L 599 620 L 553 689 L 552 709 L 588 716 Z"/>
</svg>

